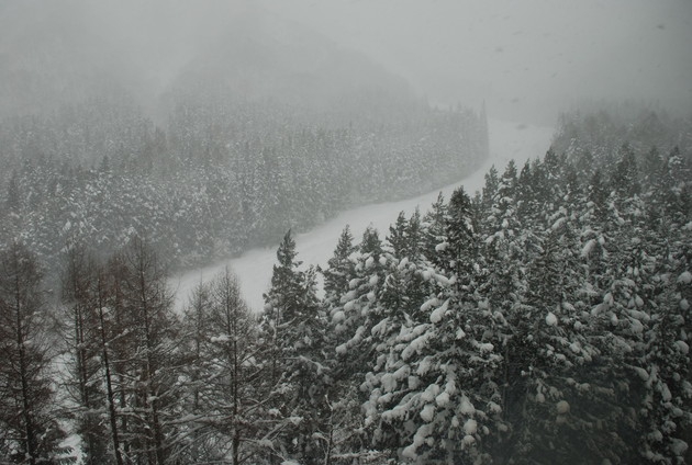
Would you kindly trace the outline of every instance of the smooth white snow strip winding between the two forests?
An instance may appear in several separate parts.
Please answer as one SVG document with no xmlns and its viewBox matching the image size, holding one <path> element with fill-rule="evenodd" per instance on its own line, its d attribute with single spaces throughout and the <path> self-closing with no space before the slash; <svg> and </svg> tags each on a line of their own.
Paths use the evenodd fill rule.
<svg viewBox="0 0 692 465">
<path fill-rule="evenodd" d="M 406 215 L 420 207 L 425 213 L 442 191 L 445 199 L 449 199 L 451 192 L 459 185 L 464 185 L 469 194 L 480 190 L 484 183 L 484 174 L 491 166 L 495 166 L 502 173 L 504 166 L 514 159 L 518 169 L 523 162 L 531 158 L 543 157 L 550 146 L 553 136 L 551 127 L 531 126 L 505 121 L 490 120 L 490 159 L 473 174 L 435 190 L 421 196 L 400 202 L 387 202 L 366 205 L 349 209 L 317 226 L 315 229 L 295 237 L 298 259 L 304 264 L 325 266 L 327 260 L 334 253 L 344 226 L 349 225 L 356 241 L 362 231 L 372 225 L 380 231 L 383 239 L 400 212 Z M 263 293 L 267 291 L 271 281 L 272 265 L 276 262 L 276 249 L 274 247 L 253 249 L 241 257 L 224 260 L 171 279 L 171 286 L 176 291 L 176 307 L 181 308 L 187 302 L 190 291 L 201 280 L 208 281 L 228 265 L 239 277 L 241 287 L 250 308 L 259 310 L 264 306 Z"/>
</svg>

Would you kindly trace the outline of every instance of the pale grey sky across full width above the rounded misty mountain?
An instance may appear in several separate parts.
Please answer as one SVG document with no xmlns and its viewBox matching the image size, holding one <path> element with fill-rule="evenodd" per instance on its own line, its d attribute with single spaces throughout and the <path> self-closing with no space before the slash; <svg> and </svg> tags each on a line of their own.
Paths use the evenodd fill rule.
<svg viewBox="0 0 692 465">
<path fill-rule="evenodd" d="M 238 18 L 279 18 L 365 53 L 433 103 L 484 100 L 496 117 L 548 124 L 584 99 L 692 113 L 692 0 L 0 0 L 3 11 L 0 57 L 26 31 L 54 41 L 79 25 L 90 61 L 132 67 L 153 94 Z"/>
</svg>

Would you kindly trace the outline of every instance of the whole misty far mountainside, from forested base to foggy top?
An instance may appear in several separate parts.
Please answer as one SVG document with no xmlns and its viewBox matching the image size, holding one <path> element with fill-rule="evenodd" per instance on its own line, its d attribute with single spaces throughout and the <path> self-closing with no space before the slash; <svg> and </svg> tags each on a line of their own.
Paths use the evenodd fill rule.
<svg viewBox="0 0 692 465">
<path fill-rule="evenodd" d="M 449 184 L 481 112 L 432 109 L 365 56 L 253 2 L 4 4 L 0 246 L 150 239 L 175 265 Z"/>
</svg>

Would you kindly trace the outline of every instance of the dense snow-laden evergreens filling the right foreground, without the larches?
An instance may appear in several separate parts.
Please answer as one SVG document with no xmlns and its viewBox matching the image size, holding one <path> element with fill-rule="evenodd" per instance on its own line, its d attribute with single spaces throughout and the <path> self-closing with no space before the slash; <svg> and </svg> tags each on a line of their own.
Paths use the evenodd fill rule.
<svg viewBox="0 0 692 465">
<path fill-rule="evenodd" d="M 400 216 L 383 243 L 366 231 L 350 266 L 343 237 L 334 373 L 384 457 L 689 462 L 692 151 L 604 132 L 592 157 L 590 124 L 569 121 L 563 154 L 491 170 L 482 195 Z"/>
</svg>

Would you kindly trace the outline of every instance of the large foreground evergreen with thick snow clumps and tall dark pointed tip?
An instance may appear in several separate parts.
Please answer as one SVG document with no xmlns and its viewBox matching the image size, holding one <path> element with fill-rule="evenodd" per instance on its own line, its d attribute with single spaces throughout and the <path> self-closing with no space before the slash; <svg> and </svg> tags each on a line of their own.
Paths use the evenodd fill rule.
<svg viewBox="0 0 692 465">
<path fill-rule="evenodd" d="M 364 384 L 370 392 L 366 424 L 375 444 L 395 460 L 483 460 L 479 444 L 500 412 L 493 367 L 501 358 L 487 340 L 488 313 L 472 290 L 480 245 L 470 205 L 462 190 L 453 194 L 445 246 L 437 247 L 443 266 L 421 263 L 416 270 L 428 290 L 416 319 L 397 324 L 383 308 L 384 318 L 372 328 L 387 337 Z"/>
</svg>

